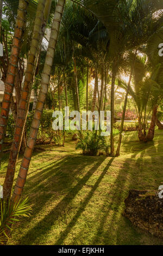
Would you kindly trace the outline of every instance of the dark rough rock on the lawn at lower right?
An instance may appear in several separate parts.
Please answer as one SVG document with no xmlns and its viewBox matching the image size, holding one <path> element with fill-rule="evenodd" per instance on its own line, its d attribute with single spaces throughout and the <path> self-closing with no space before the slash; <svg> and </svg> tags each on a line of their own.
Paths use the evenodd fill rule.
<svg viewBox="0 0 163 256">
<path fill-rule="evenodd" d="M 135 226 L 163 238 L 163 199 L 159 192 L 131 189 L 124 200 L 124 216 Z"/>
</svg>

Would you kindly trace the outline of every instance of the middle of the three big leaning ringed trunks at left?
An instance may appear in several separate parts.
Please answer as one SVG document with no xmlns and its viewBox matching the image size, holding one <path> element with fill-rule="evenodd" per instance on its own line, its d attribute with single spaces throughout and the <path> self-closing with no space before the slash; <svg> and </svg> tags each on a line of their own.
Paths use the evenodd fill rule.
<svg viewBox="0 0 163 256">
<path fill-rule="evenodd" d="M 11 145 L 9 164 L 4 180 L 4 198 L 10 198 L 12 184 L 15 175 L 15 166 L 17 162 L 18 152 L 22 142 L 24 126 L 26 124 L 27 113 L 29 109 L 30 93 L 32 90 L 33 78 L 37 66 L 37 59 L 40 52 L 41 42 L 43 38 L 42 28 L 45 27 L 44 10 L 46 0 L 39 0 L 37 4 L 36 17 L 34 22 L 33 38 L 28 56 L 27 70 L 22 89 L 22 96 L 18 105 L 17 118 L 15 124 L 14 138 Z M 47 5 L 49 9 L 49 6 Z M 47 19 L 47 17 L 46 17 Z M 40 22 L 41 21 L 41 22 Z"/>
</svg>

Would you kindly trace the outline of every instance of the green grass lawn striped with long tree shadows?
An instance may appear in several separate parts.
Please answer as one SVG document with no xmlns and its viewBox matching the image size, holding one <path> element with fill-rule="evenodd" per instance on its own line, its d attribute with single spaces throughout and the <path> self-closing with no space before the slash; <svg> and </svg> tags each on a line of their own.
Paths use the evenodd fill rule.
<svg viewBox="0 0 163 256">
<path fill-rule="evenodd" d="M 163 130 L 147 144 L 127 132 L 119 158 L 84 157 L 70 139 L 64 148 L 41 146 L 47 151 L 34 152 L 23 194 L 33 212 L 16 224 L 8 245 L 163 245 L 123 217 L 129 189 L 163 182 L 162 139 Z"/>
</svg>

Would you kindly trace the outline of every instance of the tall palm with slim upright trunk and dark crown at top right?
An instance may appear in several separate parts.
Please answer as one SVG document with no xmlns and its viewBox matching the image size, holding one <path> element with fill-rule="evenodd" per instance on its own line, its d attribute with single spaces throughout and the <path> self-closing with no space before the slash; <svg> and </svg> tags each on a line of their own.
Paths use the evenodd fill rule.
<svg viewBox="0 0 163 256">
<path fill-rule="evenodd" d="M 160 9 L 161 3 L 156 0 L 155 3 L 151 0 L 141 1 L 98 1 L 96 4 L 92 4 L 91 0 L 79 0 L 86 8 L 90 9 L 101 20 L 110 37 L 110 58 L 112 61 L 112 82 L 111 82 L 111 134 L 110 134 L 110 147 L 111 156 L 114 156 L 114 136 L 113 136 L 113 124 L 114 124 L 114 90 L 115 80 L 118 72 L 118 62 L 121 58 L 121 54 L 129 49 L 133 49 L 134 46 L 140 45 L 147 41 L 149 37 L 146 30 L 146 18 L 152 19 L 152 14 Z M 138 11 L 139 10 L 139 11 Z M 137 13 L 142 13 L 141 19 Z M 131 17 L 134 17 L 134 19 Z M 137 20 L 139 19 L 139 20 Z M 137 22 L 137 23 L 136 23 Z M 140 42 L 137 44 L 135 38 L 137 37 L 136 24 L 143 28 Z M 155 28 L 157 24 L 155 24 Z M 137 27 L 136 26 L 136 27 Z M 154 28 L 154 26 L 153 26 Z M 133 32 L 131 32 L 133 31 Z M 139 34 L 140 35 L 140 34 Z"/>
</svg>

